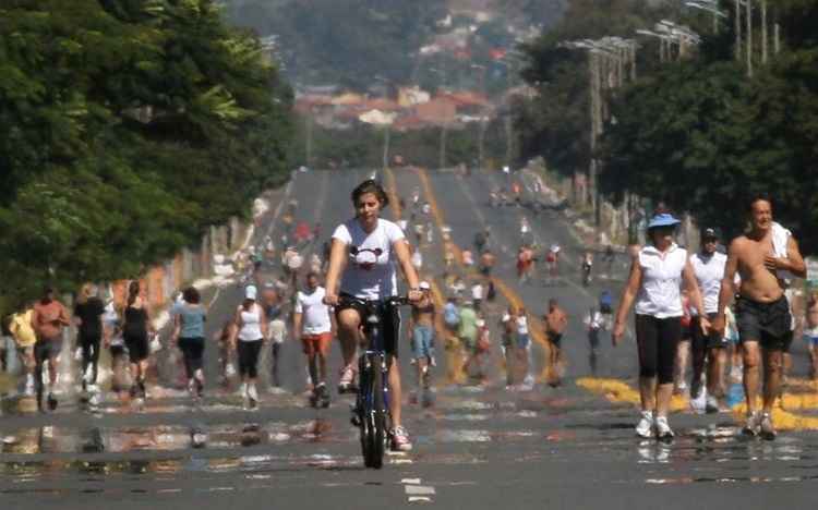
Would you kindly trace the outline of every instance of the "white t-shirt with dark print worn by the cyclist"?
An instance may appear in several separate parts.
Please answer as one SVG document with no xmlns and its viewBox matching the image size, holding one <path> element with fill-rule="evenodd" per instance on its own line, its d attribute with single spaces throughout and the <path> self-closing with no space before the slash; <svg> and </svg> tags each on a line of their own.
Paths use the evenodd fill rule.
<svg viewBox="0 0 818 510">
<path fill-rule="evenodd" d="M 349 247 L 349 263 L 340 290 L 364 300 L 381 300 L 398 292 L 395 256 L 392 246 L 406 239 L 400 228 L 385 219 L 377 220 L 371 233 L 363 231 L 357 218 L 335 229 L 333 239 Z"/>
</svg>

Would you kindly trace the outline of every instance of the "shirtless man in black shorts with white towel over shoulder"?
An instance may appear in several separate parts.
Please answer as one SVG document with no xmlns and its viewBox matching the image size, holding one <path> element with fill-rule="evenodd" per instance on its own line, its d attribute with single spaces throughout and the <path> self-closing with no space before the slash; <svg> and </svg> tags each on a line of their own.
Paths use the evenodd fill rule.
<svg viewBox="0 0 818 510">
<path fill-rule="evenodd" d="M 772 221 L 772 204 L 768 197 L 759 195 L 753 198 L 749 220 L 749 232 L 730 243 L 713 328 L 720 335 L 724 333 L 724 308 L 735 295 L 733 282 L 738 271 L 742 283 L 735 311 L 739 341 L 744 347 L 744 390 L 747 396 L 747 424 L 743 432 L 753 436 L 760 433 L 765 439 L 771 440 L 775 438 L 772 404 L 781 385 L 783 353 L 792 341 L 783 279 L 786 272 L 806 277 L 806 266 L 795 239 Z M 760 357 L 765 365 L 761 414 L 756 403 Z"/>
</svg>

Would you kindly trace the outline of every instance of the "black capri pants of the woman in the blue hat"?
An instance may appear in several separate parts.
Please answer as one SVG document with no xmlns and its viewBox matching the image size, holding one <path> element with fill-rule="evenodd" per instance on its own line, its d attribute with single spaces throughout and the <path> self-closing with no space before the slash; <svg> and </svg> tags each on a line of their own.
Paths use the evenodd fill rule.
<svg viewBox="0 0 818 510">
<path fill-rule="evenodd" d="M 657 377 L 660 385 L 673 382 L 676 347 L 682 338 L 682 317 L 636 316 L 639 377 Z"/>
</svg>

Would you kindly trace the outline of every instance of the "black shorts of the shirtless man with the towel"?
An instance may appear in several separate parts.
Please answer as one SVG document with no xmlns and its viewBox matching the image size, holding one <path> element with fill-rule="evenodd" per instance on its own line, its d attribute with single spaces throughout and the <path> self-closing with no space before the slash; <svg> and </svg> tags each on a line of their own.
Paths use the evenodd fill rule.
<svg viewBox="0 0 818 510">
<path fill-rule="evenodd" d="M 789 351 L 793 341 L 790 304 L 782 295 L 772 303 L 758 303 L 741 296 L 735 305 L 741 342 L 760 342 L 765 349 Z"/>
</svg>

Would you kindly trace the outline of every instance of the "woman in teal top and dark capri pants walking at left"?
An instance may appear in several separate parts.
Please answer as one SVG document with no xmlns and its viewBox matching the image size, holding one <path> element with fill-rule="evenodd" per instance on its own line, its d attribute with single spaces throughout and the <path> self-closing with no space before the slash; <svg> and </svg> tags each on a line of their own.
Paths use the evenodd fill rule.
<svg viewBox="0 0 818 510">
<path fill-rule="evenodd" d="M 204 324 L 207 319 L 202 298 L 195 287 L 184 289 L 183 303 L 177 308 L 173 319 L 172 341 L 182 351 L 188 391 L 191 397 L 202 398 L 204 392 Z"/>
</svg>

